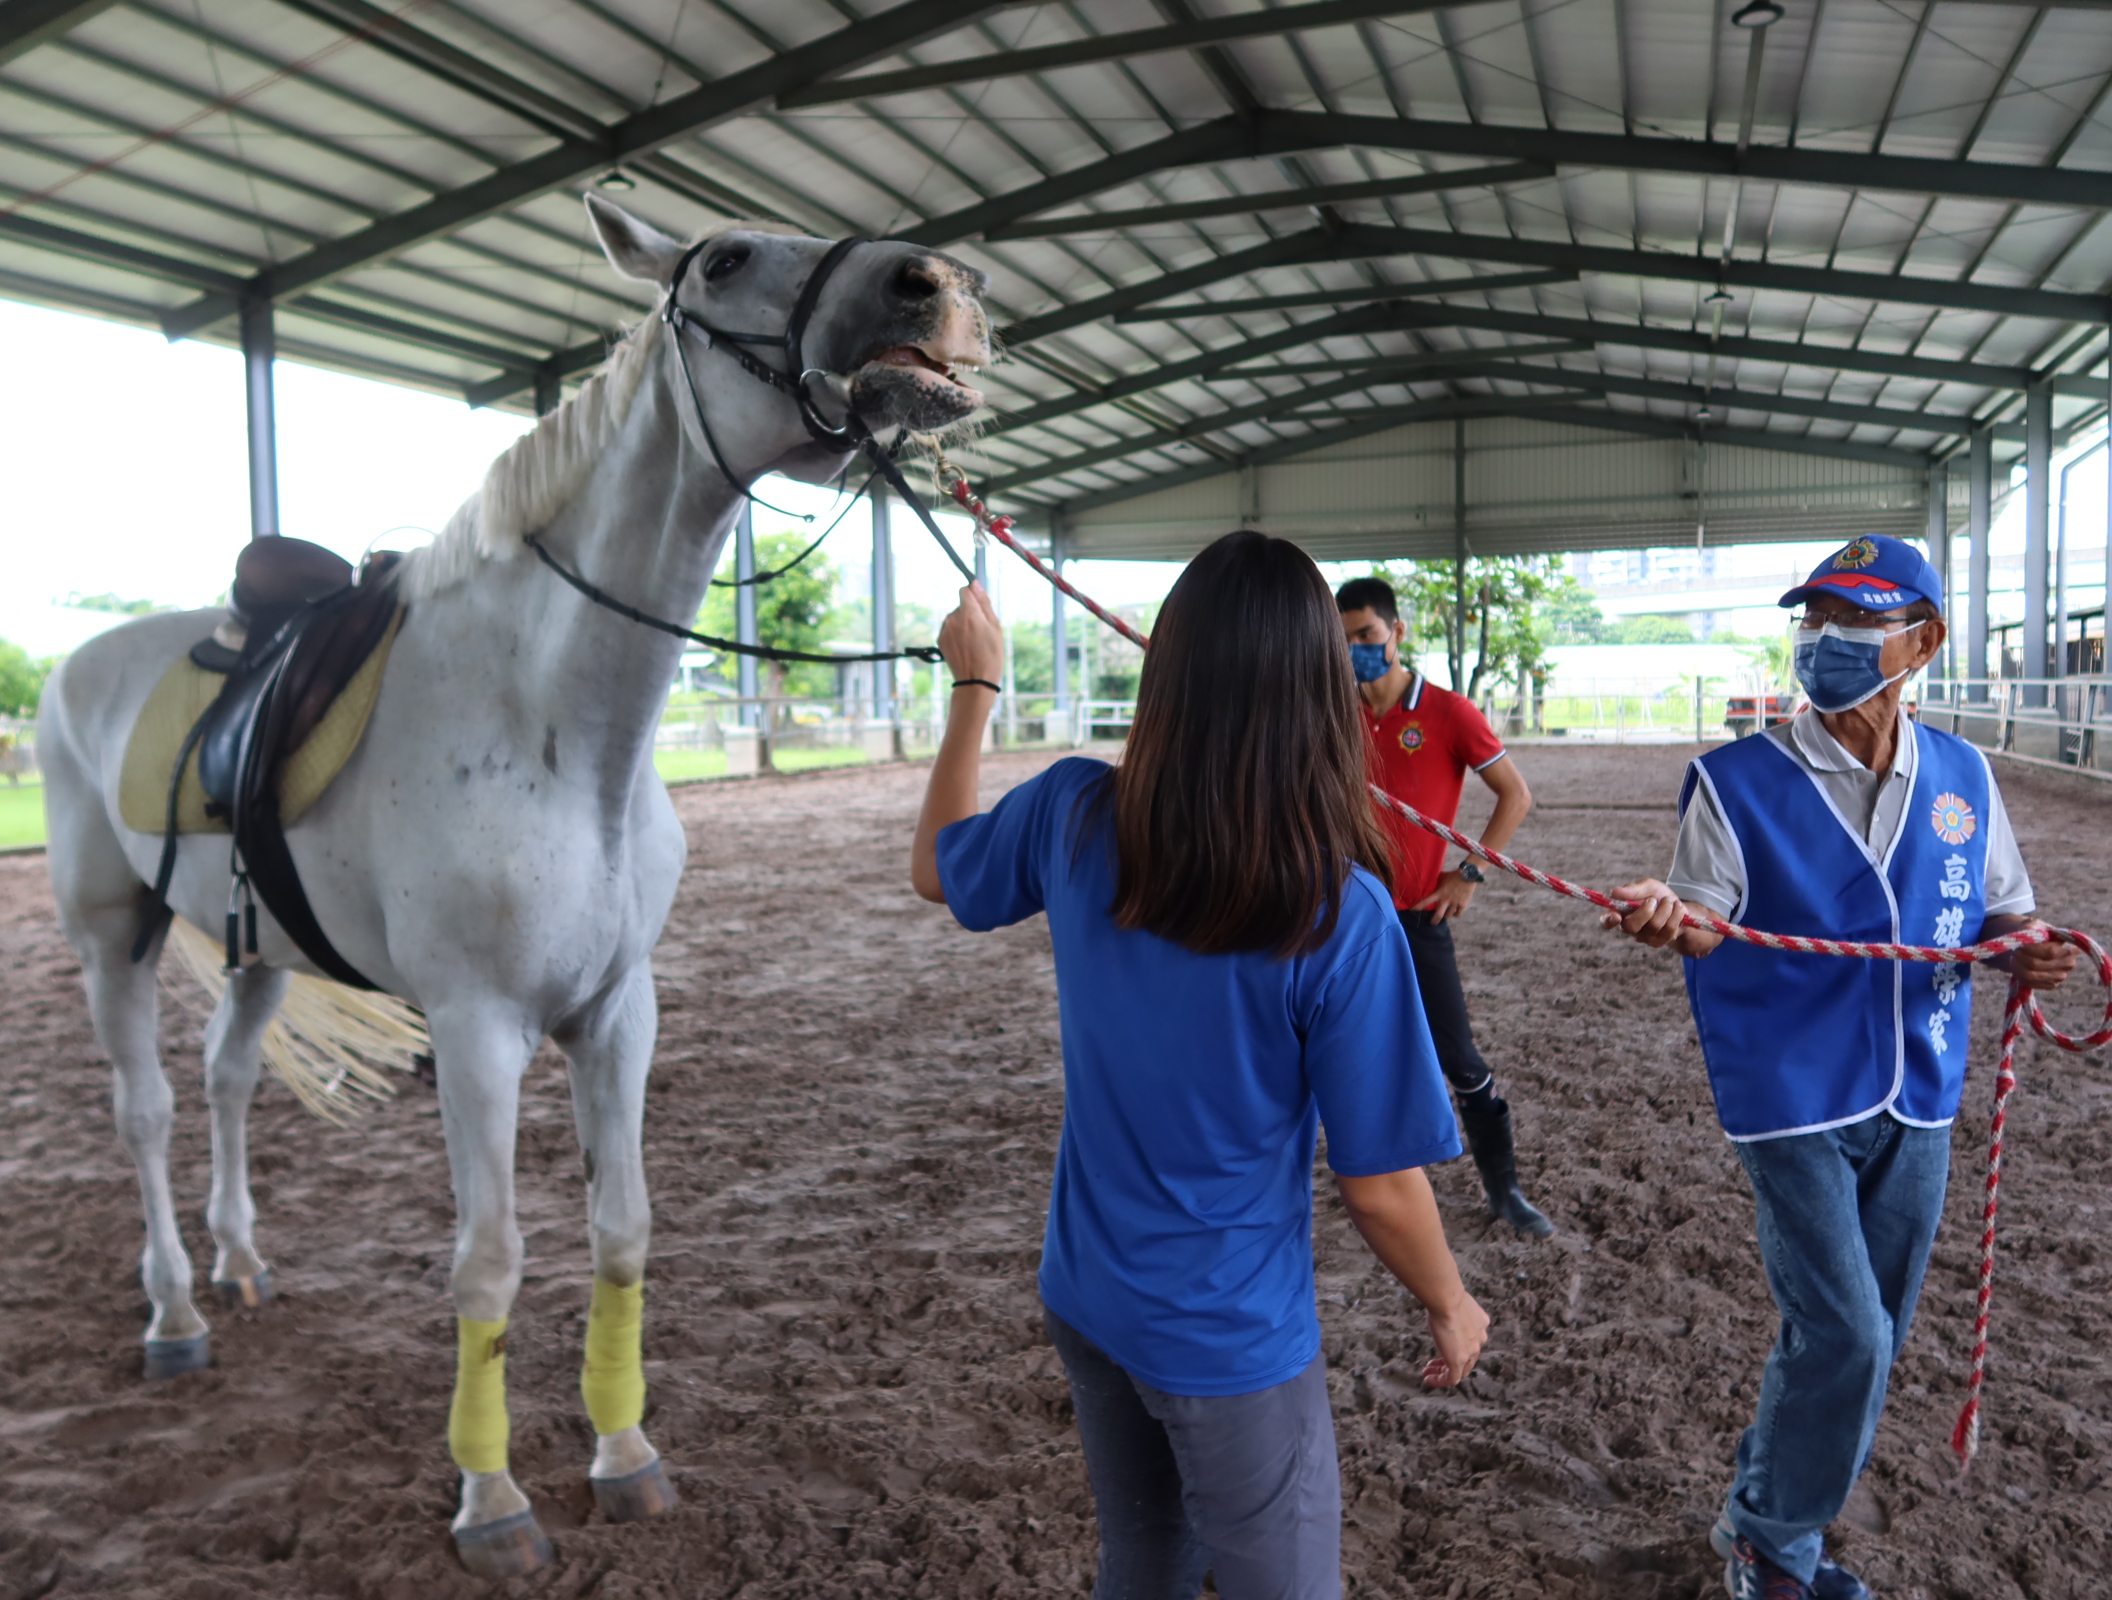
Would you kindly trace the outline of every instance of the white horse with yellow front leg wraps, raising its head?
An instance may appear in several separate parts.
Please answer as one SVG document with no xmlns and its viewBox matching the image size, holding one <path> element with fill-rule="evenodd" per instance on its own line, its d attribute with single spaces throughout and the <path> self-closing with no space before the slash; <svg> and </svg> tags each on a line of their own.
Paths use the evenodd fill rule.
<svg viewBox="0 0 2112 1600">
<path fill-rule="evenodd" d="M 378 988 L 418 1005 L 431 1028 L 456 1199 L 454 1539 L 465 1564 L 492 1577 L 549 1558 L 507 1471 L 505 1412 L 505 1323 L 522 1275 L 513 1131 L 522 1074 L 545 1036 L 570 1060 L 589 1184 L 589 1478 L 610 1516 L 646 1516 L 674 1499 L 638 1427 L 650 1228 L 640 1121 L 657 1032 L 650 952 L 686 855 L 650 764 L 682 646 L 589 604 L 526 540 L 541 536 L 617 599 L 686 621 L 743 502 L 729 471 L 826 481 L 851 452 L 828 426 L 851 412 L 874 431 L 961 422 L 982 395 L 955 369 L 988 361 L 984 281 L 950 258 L 889 241 L 830 253 L 828 241 L 771 230 L 710 234 L 684 253 L 598 196 L 587 211 L 617 272 L 659 285 L 663 312 L 672 300 L 678 315 L 631 331 L 408 559 L 410 612 L 365 739 L 289 830 L 329 939 Z M 819 298 L 800 304 L 824 262 Z M 794 321 L 805 340 L 773 357 L 767 346 Z M 792 365 L 792 384 L 769 386 L 743 369 L 727 331 L 767 334 L 741 348 L 773 369 Z M 51 880 L 146 1201 L 150 1372 L 203 1366 L 207 1323 L 169 1193 L 161 950 L 131 960 L 161 840 L 120 821 L 118 775 L 148 692 L 222 618 L 150 616 L 103 633 L 51 678 L 38 720 Z M 218 927 L 228 893 L 226 838 L 186 838 L 169 906 Z M 245 1121 L 260 1039 L 287 975 L 302 971 L 313 967 L 264 916 L 258 965 L 228 977 L 207 1030 L 215 1285 L 268 1281 L 253 1241 Z"/>
</svg>

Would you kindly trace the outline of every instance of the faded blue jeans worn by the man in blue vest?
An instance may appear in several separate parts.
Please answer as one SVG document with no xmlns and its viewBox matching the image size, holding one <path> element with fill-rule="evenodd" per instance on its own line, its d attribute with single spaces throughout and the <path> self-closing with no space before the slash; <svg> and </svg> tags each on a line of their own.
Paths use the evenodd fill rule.
<svg viewBox="0 0 2112 1600">
<path fill-rule="evenodd" d="M 1878 1440 L 1943 1216 L 1951 1131 L 1880 1115 L 1736 1148 L 1783 1330 L 1738 1442 L 1730 1520 L 1810 1583 Z"/>
</svg>

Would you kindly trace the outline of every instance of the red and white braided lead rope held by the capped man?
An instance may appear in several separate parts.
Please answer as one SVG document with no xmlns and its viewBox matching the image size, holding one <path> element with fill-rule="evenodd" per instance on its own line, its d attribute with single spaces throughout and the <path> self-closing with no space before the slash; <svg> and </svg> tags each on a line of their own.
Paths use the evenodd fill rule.
<svg viewBox="0 0 2112 1600">
<path fill-rule="evenodd" d="M 1064 595 L 1069 595 L 1088 612 L 1107 623 L 1111 629 L 1121 633 L 1121 637 L 1130 640 L 1140 648 L 1149 648 L 1151 644 L 1149 637 L 1138 633 L 1134 627 L 1124 623 L 1113 612 L 1098 606 L 1088 595 L 1081 595 L 1077 589 L 1064 583 L 1064 578 L 1060 578 L 1054 568 L 1050 568 L 1018 538 L 1014 538 L 1012 517 L 993 517 L 984 509 L 982 500 L 978 500 L 976 494 L 969 490 L 967 477 L 963 477 L 961 471 L 953 466 L 953 462 L 948 462 L 942 456 L 938 469 L 942 481 L 950 479 L 950 483 L 946 483 L 946 492 L 953 496 L 955 504 L 959 504 L 969 517 L 976 519 L 978 538 L 984 534 L 988 538 L 995 538 L 1007 551 L 1026 561 L 1026 566 L 1031 566 L 1052 585 L 1062 589 Z M 1519 878 L 1535 882 L 1542 889 L 1552 889 L 1557 895 L 1567 895 L 1569 899 L 1582 899 L 1607 912 L 1633 912 L 1641 906 L 1641 901 L 1614 899 L 1611 895 L 1603 895 L 1597 889 L 1584 889 L 1582 884 L 1573 884 L 1567 878 L 1557 878 L 1552 872 L 1542 872 L 1540 868 L 1527 865 L 1525 861 L 1514 861 L 1502 851 L 1491 851 L 1481 840 L 1462 834 L 1457 827 L 1447 827 L 1434 817 L 1426 817 L 1423 813 L 1415 811 L 1415 806 L 1396 800 L 1394 796 L 1385 794 L 1385 789 L 1381 789 L 1377 783 L 1371 785 L 1371 794 L 1379 804 L 1400 813 L 1417 827 L 1436 834 L 1449 844 L 1457 844 L 1468 855 L 1476 855 L 1493 868 L 1502 868 L 1504 872 L 1516 874 Z M 1970 1467 L 1973 1456 L 1979 1452 L 1979 1435 L 1981 1435 L 1981 1389 L 1987 1376 L 1987 1319 L 1990 1319 L 1990 1307 L 1994 1302 L 1994 1214 L 1996 1214 L 1996 1199 L 2002 1186 L 2002 1127 L 2009 1121 L 2009 1098 L 2017 1089 L 2017 1041 L 2023 1036 L 2025 1022 L 2030 1022 L 2034 1034 L 2068 1051 L 2080 1053 L 2112 1043 L 2112 956 L 2108 956 L 2104 948 L 2087 933 L 2078 933 L 2076 929 L 2053 929 L 2053 927 L 2004 933 L 1996 939 L 1985 939 L 1981 944 L 1937 948 L 1920 944 L 1863 944 L 1852 939 L 1806 939 L 1795 933 L 1764 933 L 1759 929 L 1726 922 L 1719 916 L 1698 916 L 1687 910 L 1681 910 L 1679 922 L 1681 927 L 1709 929 L 1711 933 L 1721 933 L 1726 939 L 1738 939 L 1740 944 L 1755 944 L 1761 950 L 1791 950 L 1806 956 L 1859 956 L 1863 960 L 1920 960 L 1920 963 L 1943 965 L 1943 963 L 1990 960 L 1994 956 L 2006 956 L 2013 950 L 2023 950 L 2025 946 L 2061 941 L 2076 946 L 2085 956 L 2097 963 L 2097 982 L 2106 990 L 2106 1011 L 2099 1028 L 2091 1034 L 2082 1034 L 2080 1039 L 2063 1034 L 2059 1028 L 2047 1022 L 2047 1015 L 2038 1009 L 2038 994 L 2015 979 L 2011 979 L 2009 1001 L 2002 1007 L 2002 1058 L 1996 1064 L 1996 1074 L 1994 1074 L 1994 1115 L 1990 1119 L 1990 1131 L 1987 1131 L 1987 1188 L 1985 1188 L 1985 1203 L 1981 1207 L 1981 1239 L 1979 1239 L 1981 1271 L 1979 1271 L 1979 1296 L 1973 1315 L 1973 1366 L 1970 1372 L 1966 1374 L 1966 1404 L 1958 1412 L 1958 1425 L 1951 1429 L 1951 1450 L 1958 1454 L 1958 1465 L 1960 1469 Z"/>
</svg>

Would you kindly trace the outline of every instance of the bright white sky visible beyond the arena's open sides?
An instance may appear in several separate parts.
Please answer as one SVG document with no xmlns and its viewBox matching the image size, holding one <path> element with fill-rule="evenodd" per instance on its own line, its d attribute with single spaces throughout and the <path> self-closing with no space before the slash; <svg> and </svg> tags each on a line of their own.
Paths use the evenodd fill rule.
<svg viewBox="0 0 2112 1600">
<path fill-rule="evenodd" d="M 8 485 L 0 637 L 36 650 L 27 631 L 46 627 L 49 606 L 74 593 L 211 604 L 249 538 L 241 357 L 11 302 L 0 302 L 0 350 L 15 378 L 0 386 Z M 422 542 L 528 426 L 507 412 L 473 412 L 441 395 L 291 361 L 277 365 L 277 393 L 281 532 L 348 559 L 376 542 Z M 2101 504 L 2104 460 L 2099 454 L 2076 473 L 2074 496 L 2091 509 Z M 832 515 L 828 490 L 771 481 L 765 494 L 824 521 Z M 959 576 L 906 507 L 893 515 L 898 597 L 934 614 L 950 610 Z M 946 521 L 965 553 L 965 519 Z M 824 547 L 847 578 L 847 597 L 868 580 L 870 526 L 853 509 Z M 758 534 L 773 528 L 811 534 L 822 521 L 758 511 Z M 2085 534 L 2078 542 L 2099 540 Z M 1998 553 L 2021 545 L 2021 500 L 2011 502 L 1992 545 Z M 1039 578 L 1003 551 L 993 551 L 991 566 L 993 597 L 1007 621 L 1048 618 L 1050 593 Z M 1176 561 L 1067 568 L 1111 606 L 1159 599 L 1178 572 Z M 1996 599 L 2000 610 L 2002 595 Z"/>
</svg>

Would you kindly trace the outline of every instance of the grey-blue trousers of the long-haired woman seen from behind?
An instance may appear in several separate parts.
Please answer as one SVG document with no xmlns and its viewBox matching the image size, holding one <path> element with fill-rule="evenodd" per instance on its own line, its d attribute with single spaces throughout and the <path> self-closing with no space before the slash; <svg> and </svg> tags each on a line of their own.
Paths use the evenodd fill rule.
<svg viewBox="0 0 2112 1600">
<path fill-rule="evenodd" d="M 1054 1311 L 1100 1518 L 1092 1600 L 1339 1600 L 1341 1471 L 1326 1361 L 1250 1395 L 1168 1395 Z"/>
</svg>

